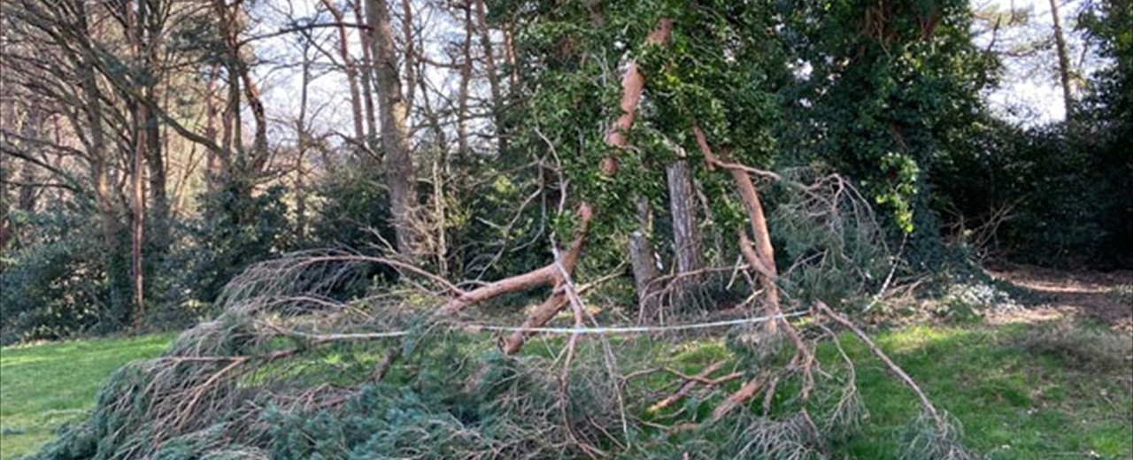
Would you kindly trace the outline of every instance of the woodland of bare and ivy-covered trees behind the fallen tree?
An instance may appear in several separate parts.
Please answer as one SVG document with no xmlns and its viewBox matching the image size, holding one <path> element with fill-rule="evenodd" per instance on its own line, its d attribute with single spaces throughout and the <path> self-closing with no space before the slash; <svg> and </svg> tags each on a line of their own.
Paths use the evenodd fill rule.
<svg viewBox="0 0 1133 460">
<path fill-rule="evenodd" d="M 897 278 L 1130 267 L 1131 7 L 1050 7 L 1054 27 L 959 0 L 6 1 L 2 341 L 190 325 L 309 248 L 496 280 L 551 261 L 579 201 L 603 208 L 580 276 L 613 273 L 633 309 L 641 276 L 736 257 L 693 123 L 748 165 L 844 177 Z M 671 46 L 646 41 L 662 18 Z M 648 83 L 614 180 L 631 59 Z M 1065 117 L 1004 102 L 1019 78 Z M 776 247 L 800 232 L 770 225 Z"/>
</svg>

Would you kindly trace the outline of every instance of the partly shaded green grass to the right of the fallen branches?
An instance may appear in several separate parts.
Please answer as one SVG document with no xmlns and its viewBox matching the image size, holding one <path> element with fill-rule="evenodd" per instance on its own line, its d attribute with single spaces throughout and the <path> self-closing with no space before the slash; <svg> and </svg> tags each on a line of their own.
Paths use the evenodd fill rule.
<svg viewBox="0 0 1133 460">
<path fill-rule="evenodd" d="M 962 424 L 964 444 L 990 459 L 1133 458 L 1133 364 L 1072 370 L 1023 348 L 1031 327 L 911 327 L 876 341 Z M 914 397 L 859 341 L 843 335 L 843 343 L 859 361 L 870 410 L 844 448 L 860 459 L 896 458 L 896 438 L 918 410 Z"/>
</svg>

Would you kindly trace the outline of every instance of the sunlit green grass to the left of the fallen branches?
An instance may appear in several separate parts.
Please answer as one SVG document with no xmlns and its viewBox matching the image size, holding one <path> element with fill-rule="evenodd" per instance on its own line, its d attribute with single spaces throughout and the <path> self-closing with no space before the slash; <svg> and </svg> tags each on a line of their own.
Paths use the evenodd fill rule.
<svg viewBox="0 0 1133 460">
<path fill-rule="evenodd" d="M 121 365 L 161 353 L 171 334 L 0 349 L 0 460 L 31 453 L 82 419 Z"/>
</svg>

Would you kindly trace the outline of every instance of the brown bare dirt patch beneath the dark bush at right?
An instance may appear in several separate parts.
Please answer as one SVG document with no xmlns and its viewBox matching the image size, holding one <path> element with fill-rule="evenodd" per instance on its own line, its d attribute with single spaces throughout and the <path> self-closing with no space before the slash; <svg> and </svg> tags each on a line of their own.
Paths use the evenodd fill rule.
<svg viewBox="0 0 1133 460">
<path fill-rule="evenodd" d="M 987 273 L 1043 299 L 1016 314 L 1023 318 L 1085 316 L 1115 330 L 1133 331 L 1133 271 L 1059 271 L 1011 265 L 988 269 Z"/>
</svg>

